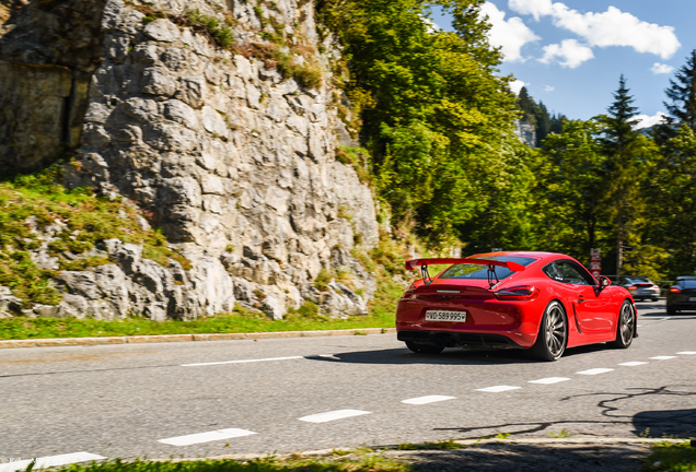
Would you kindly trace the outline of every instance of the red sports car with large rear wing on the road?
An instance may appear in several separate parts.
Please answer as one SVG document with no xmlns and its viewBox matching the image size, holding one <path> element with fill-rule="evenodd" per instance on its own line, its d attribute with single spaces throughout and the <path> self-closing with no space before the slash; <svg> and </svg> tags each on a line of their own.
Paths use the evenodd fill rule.
<svg viewBox="0 0 696 472">
<path fill-rule="evenodd" d="M 429 264 L 452 264 L 434 278 Z M 490 252 L 416 259 L 422 279 L 398 300 L 398 340 L 418 353 L 444 347 L 524 349 L 556 361 L 566 347 L 606 342 L 626 349 L 638 311 L 624 287 L 598 281 L 576 259 L 554 252 Z"/>
</svg>

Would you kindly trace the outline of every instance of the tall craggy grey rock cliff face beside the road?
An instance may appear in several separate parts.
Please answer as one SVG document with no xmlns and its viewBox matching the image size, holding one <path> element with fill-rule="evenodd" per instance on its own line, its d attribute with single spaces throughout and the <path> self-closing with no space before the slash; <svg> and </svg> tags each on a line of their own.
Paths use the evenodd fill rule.
<svg viewBox="0 0 696 472">
<path fill-rule="evenodd" d="M 164 268 L 105 241 L 113 264 L 63 272 L 61 305 L 32 314 L 187 319 L 241 303 L 279 318 L 304 299 L 335 317 L 366 312 L 374 281 L 351 250 L 378 241 L 374 203 L 335 158 L 338 50 L 317 37 L 312 2 L 84 0 L 67 12 L 61 0 L 2 1 L 0 165 L 35 168 L 72 145 L 67 185 L 136 202 L 193 263 Z M 81 12 L 77 38 L 53 42 Z M 228 25 L 237 48 L 192 12 Z M 274 60 L 264 38 L 278 34 Z M 278 58 L 320 76 L 281 73 Z M 318 291 L 322 269 L 350 273 L 351 287 Z"/>
</svg>

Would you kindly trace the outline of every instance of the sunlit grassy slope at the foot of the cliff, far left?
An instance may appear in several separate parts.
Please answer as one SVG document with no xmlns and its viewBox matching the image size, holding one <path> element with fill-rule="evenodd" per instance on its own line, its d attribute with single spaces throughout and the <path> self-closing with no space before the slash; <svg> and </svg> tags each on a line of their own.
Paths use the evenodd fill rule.
<svg viewBox="0 0 696 472">
<path fill-rule="evenodd" d="M 144 258 L 163 266 L 174 259 L 190 268 L 186 258 L 169 248 L 162 233 L 139 226 L 136 206 L 96 197 L 90 189 L 65 188 L 57 184 L 60 180 L 60 167 L 54 166 L 0 182 L 0 285 L 22 298 L 25 308 L 60 303 L 61 296 L 50 282 L 60 270 L 109 263 L 103 256 L 81 260 L 62 257 L 88 252 L 105 239 L 142 245 Z M 55 228 L 57 239 L 48 244 L 48 252 L 58 257 L 58 270 L 40 269 L 31 257 L 31 251 L 44 244 L 36 231 L 48 226 Z"/>
</svg>

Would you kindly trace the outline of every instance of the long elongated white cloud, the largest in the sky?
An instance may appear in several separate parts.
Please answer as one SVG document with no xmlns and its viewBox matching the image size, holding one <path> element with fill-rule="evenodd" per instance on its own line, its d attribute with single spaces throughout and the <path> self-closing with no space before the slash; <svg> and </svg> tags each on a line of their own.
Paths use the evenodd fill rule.
<svg viewBox="0 0 696 472">
<path fill-rule="evenodd" d="M 638 52 L 651 52 L 669 59 L 681 44 L 672 26 L 660 26 L 640 21 L 616 7 L 604 13 L 580 13 L 566 4 L 550 0 L 509 0 L 508 7 L 535 19 L 553 16 L 554 24 L 582 37 L 589 46 L 627 46 Z"/>
</svg>

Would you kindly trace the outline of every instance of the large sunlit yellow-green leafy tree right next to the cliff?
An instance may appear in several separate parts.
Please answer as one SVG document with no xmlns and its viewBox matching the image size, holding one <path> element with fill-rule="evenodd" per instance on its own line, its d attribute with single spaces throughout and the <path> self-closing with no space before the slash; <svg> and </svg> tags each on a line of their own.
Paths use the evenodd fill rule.
<svg viewBox="0 0 696 472">
<path fill-rule="evenodd" d="M 454 33 L 430 27 L 428 7 L 436 3 L 452 14 Z M 489 192 L 495 182 L 529 170 L 509 152 L 515 97 L 511 79 L 496 69 L 501 55 L 488 43 L 483 3 L 317 3 L 345 46 L 345 93 L 359 113 L 378 193 L 394 223 L 415 221 L 433 245 L 466 239 L 465 223 L 498 204 Z"/>
</svg>

